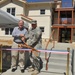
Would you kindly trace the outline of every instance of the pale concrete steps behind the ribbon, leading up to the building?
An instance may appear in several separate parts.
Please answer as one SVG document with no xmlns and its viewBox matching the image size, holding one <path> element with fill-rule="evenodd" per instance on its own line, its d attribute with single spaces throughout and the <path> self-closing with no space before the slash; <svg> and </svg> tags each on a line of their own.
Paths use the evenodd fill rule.
<svg viewBox="0 0 75 75">
<path fill-rule="evenodd" d="M 43 48 L 45 49 L 45 45 L 43 45 Z M 49 44 L 48 49 L 52 47 L 52 43 Z M 67 48 L 70 48 L 70 62 L 69 62 L 69 75 L 71 74 L 71 52 L 72 52 L 72 46 L 70 43 L 56 43 L 55 48 L 53 50 L 67 50 Z M 66 65 L 67 65 L 67 55 L 66 54 L 54 54 L 51 53 L 51 57 L 49 59 L 48 63 L 48 70 L 45 70 L 45 64 L 46 61 L 44 59 L 44 53 L 41 53 L 42 60 L 44 61 L 43 65 L 44 68 L 42 71 L 49 72 L 50 75 L 65 75 L 66 73 Z"/>
</svg>

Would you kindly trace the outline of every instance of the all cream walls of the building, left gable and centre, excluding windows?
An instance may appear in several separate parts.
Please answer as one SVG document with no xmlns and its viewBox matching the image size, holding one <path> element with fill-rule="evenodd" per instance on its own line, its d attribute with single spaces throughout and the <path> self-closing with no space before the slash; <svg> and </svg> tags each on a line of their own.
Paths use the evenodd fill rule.
<svg viewBox="0 0 75 75">
<path fill-rule="evenodd" d="M 23 6 L 25 6 L 23 8 Z M 23 5 L 22 3 L 18 3 L 14 0 L 14 3 L 7 3 L 0 7 L 2 10 L 6 11 L 7 8 L 16 8 L 16 17 L 21 19 L 20 14 L 25 14 L 26 16 L 37 20 L 37 24 L 39 27 L 44 27 L 44 32 L 42 33 L 42 38 L 48 39 L 51 33 L 51 7 L 50 4 L 29 4 Z M 45 9 L 45 14 L 40 14 L 40 9 Z M 29 24 L 29 23 L 28 23 Z M 30 25 L 29 25 L 30 26 Z M 1 35 L 5 35 L 5 31 L 0 30 Z M 9 35 L 7 35 L 9 36 Z"/>
</svg>

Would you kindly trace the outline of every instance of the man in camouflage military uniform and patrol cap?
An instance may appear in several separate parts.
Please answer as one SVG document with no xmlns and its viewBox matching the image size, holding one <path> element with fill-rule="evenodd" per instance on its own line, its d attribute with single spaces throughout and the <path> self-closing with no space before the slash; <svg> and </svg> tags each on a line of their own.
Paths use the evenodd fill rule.
<svg viewBox="0 0 75 75">
<path fill-rule="evenodd" d="M 31 28 L 29 30 L 29 34 L 25 36 L 28 38 L 27 44 L 35 49 L 42 48 L 42 32 L 39 27 L 37 27 L 37 21 L 33 20 L 31 24 Z M 39 52 L 33 51 L 30 53 L 30 61 L 33 63 L 32 67 L 28 69 L 28 71 L 33 71 L 31 75 L 37 75 L 40 72 L 40 57 Z M 40 59 L 39 59 L 40 58 Z"/>
</svg>

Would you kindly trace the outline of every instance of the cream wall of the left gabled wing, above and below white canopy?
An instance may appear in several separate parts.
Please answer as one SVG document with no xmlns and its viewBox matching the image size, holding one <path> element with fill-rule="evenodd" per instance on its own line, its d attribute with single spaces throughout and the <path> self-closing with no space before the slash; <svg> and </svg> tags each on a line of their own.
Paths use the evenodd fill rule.
<svg viewBox="0 0 75 75">
<path fill-rule="evenodd" d="M 17 2 L 18 3 L 18 2 Z M 21 16 L 18 16 L 19 14 L 23 14 L 23 7 L 22 7 L 22 3 L 18 3 L 18 5 L 16 3 L 8 3 L 4 6 L 1 6 L 1 10 L 3 11 L 7 11 L 7 8 L 15 8 L 15 16 L 19 19 L 21 19 Z M 11 36 L 11 35 L 5 35 L 5 31 L 1 30 L 0 28 L 0 36 Z"/>
</svg>

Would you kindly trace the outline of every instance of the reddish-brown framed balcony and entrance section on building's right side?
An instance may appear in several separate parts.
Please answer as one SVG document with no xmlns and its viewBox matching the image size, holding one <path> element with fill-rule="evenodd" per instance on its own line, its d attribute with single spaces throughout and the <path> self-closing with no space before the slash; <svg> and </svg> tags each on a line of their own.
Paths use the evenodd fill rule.
<svg viewBox="0 0 75 75">
<path fill-rule="evenodd" d="M 52 28 L 58 42 L 75 42 L 75 9 L 72 0 L 62 0 L 59 8 L 54 9 Z M 57 36 L 56 36 L 57 35 Z"/>
</svg>

